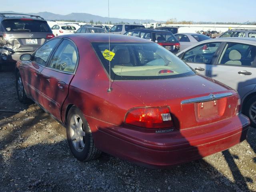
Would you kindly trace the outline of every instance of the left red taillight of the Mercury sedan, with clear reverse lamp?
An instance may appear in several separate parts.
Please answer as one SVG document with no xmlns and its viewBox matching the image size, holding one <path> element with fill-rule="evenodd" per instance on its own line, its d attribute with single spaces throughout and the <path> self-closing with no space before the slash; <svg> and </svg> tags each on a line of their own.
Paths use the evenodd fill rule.
<svg viewBox="0 0 256 192">
<path fill-rule="evenodd" d="M 130 109 L 125 123 L 143 128 L 170 128 L 173 126 L 169 107 L 137 107 Z"/>
</svg>

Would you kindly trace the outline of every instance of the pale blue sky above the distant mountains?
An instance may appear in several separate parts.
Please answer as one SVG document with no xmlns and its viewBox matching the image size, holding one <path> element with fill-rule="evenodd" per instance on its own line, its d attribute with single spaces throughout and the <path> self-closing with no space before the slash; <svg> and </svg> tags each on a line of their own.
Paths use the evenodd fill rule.
<svg viewBox="0 0 256 192">
<path fill-rule="evenodd" d="M 250 22 L 256 21 L 255 0 L 110 0 L 110 17 L 130 19 L 154 19 Z M 107 0 L 3 0 L 0 11 L 72 12 L 108 16 Z"/>
</svg>

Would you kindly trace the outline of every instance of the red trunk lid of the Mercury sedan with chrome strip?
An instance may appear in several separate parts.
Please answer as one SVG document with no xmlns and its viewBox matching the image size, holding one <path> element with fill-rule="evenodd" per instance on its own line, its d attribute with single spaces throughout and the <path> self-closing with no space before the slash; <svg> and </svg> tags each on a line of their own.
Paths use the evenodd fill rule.
<svg viewBox="0 0 256 192">
<path fill-rule="evenodd" d="M 170 106 L 176 129 L 211 124 L 236 114 L 238 94 L 210 78 L 194 75 L 160 80 L 115 82 L 142 100 L 144 106 Z"/>
</svg>

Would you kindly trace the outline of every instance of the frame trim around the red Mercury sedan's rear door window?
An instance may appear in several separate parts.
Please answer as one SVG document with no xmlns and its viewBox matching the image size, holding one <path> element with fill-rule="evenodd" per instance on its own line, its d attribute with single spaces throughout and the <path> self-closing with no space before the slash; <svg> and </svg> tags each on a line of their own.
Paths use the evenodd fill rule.
<svg viewBox="0 0 256 192">
<path fill-rule="evenodd" d="M 52 58 L 55 54 L 55 52 L 57 51 L 58 47 L 60 46 L 61 42 L 66 39 L 66 40 L 69 40 L 70 42 L 72 42 L 72 44 L 74 44 L 75 48 L 76 48 L 76 53 L 77 53 L 77 61 L 76 61 L 76 67 L 75 67 L 75 70 L 74 72 L 66 72 L 66 71 L 62 71 L 62 70 L 57 70 L 57 69 L 54 69 L 54 68 L 51 68 L 49 65 L 50 65 L 50 61 L 52 61 Z M 76 46 L 76 44 L 71 40 L 71 39 L 68 39 L 68 38 L 62 38 L 62 40 L 60 40 L 60 42 L 58 43 L 58 45 L 54 48 L 54 51 L 52 52 L 52 54 L 50 55 L 50 57 L 48 58 L 47 60 L 47 64 L 45 66 L 45 68 L 48 68 L 50 70 L 54 70 L 54 71 L 57 71 L 57 72 L 60 72 L 60 73 L 64 73 L 64 74 L 75 74 L 76 73 L 76 70 L 78 68 L 78 64 L 79 64 L 79 52 L 78 52 L 78 48 Z"/>
</svg>

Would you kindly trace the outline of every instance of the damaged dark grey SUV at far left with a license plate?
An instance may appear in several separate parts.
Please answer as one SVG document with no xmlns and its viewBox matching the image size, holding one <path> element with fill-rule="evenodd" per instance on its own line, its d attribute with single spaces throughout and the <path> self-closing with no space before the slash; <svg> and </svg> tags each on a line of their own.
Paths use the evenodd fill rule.
<svg viewBox="0 0 256 192">
<path fill-rule="evenodd" d="M 51 28 L 40 16 L 0 13 L 0 69 L 16 62 L 20 55 L 33 53 L 53 38 Z"/>
</svg>

